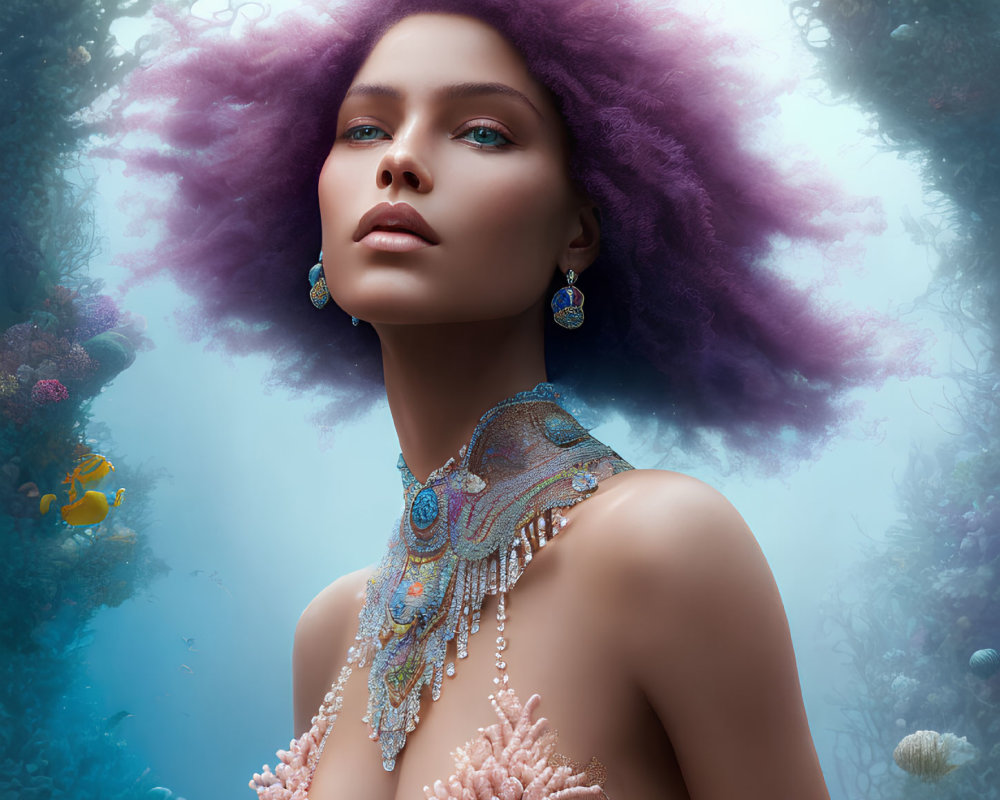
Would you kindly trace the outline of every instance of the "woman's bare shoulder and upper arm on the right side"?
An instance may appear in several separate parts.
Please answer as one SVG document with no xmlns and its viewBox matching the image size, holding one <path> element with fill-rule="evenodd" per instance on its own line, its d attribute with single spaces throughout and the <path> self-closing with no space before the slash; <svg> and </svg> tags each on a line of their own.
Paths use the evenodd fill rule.
<svg viewBox="0 0 1000 800">
<path fill-rule="evenodd" d="M 644 470 L 572 511 L 582 544 L 566 551 L 602 588 L 581 602 L 618 620 L 602 628 L 608 649 L 659 717 L 691 797 L 828 800 L 778 587 L 732 505 L 694 478 Z"/>
</svg>

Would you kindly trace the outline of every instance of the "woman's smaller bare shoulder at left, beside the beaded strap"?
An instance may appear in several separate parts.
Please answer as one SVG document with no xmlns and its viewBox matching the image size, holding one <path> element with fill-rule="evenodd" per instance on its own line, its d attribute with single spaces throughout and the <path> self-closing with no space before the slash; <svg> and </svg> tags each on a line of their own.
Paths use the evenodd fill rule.
<svg viewBox="0 0 1000 800">
<path fill-rule="evenodd" d="M 337 578 L 299 616 L 292 650 L 296 735 L 309 727 L 323 696 L 347 660 L 347 648 L 357 628 L 358 610 L 372 572 L 372 567 L 365 567 Z"/>
</svg>

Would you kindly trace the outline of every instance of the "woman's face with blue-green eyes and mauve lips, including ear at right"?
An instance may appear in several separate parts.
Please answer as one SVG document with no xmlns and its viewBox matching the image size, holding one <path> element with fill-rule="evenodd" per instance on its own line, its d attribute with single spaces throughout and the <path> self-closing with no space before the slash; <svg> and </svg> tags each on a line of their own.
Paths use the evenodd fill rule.
<svg viewBox="0 0 1000 800">
<path fill-rule="evenodd" d="M 581 242 L 596 252 L 562 120 L 520 54 L 468 17 L 407 17 L 378 42 L 340 108 L 319 201 L 330 293 L 376 324 L 513 317 L 557 267 L 589 263 Z"/>
</svg>

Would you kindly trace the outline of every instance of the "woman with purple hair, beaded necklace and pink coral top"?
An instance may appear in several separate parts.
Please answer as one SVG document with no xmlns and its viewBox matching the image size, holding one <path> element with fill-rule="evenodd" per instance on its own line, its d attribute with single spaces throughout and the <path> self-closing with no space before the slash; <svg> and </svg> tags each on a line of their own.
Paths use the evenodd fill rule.
<svg viewBox="0 0 1000 800">
<path fill-rule="evenodd" d="M 545 383 L 748 448 L 821 434 L 871 374 L 759 263 L 775 235 L 835 238 L 812 221 L 829 196 L 740 146 L 756 111 L 706 61 L 718 42 L 651 22 L 382 0 L 199 45 L 238 71 L 181 54 L 136 81 L 176 104 L 134 119 L 186 148 L 138 159 L 182 176 L 185 236 L 150 271 L 348 411 L 379 384 L 377 345 L 402 451 L 386 556 L 299 621 L 301 737 L 254 776 L 262 798 L 828 796 L 742 519 L 692 478 L 632 469 Z M 345 313 L 303 322 L 310 182 L 311 294 Z M 576 276 L 585 321 L 558 330 L 553 289 L 557 323 L 584 316 Z"/>
</svg>

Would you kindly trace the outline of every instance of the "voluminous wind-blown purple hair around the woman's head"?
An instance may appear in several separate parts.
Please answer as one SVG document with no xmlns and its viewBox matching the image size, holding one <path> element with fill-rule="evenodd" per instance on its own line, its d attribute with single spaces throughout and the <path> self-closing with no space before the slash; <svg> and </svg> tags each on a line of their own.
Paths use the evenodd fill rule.
<svg viewBox="0 0 1000 800">
<path fill-rule="evenodd" d="M 571 176 L 599 208 L 602 253 L 580 281 L 587 322 L 550 325 L 550 379 L 598 410 L 716 428 L 753 451 L 822 438 L 843 390 L 884 376 L 870 356 L 878 325 L 819 313 L 767 264 L 776 237 L 840 239 L 842 195 L 747 146 L 771 107 L 716 57 L 731 41 L 624 2 L 362 0 L 239 38 L 161 11 L 173 43 L 133 75 L 114 117 L 115 133 L 167 145 L 124 157 L 174 187 L 166 236 L 135 279 L 171 273 L 198 298 L 201 332 L 233 352 L 270 353 L 292 388 L 332 389 L 340 417 L 375 400 L 374 332 L 309 304 L 316 186 L 367 53 L 425 11 L 479 18 L 522 53 L 566 122 Z M 800 435 L 776 437 L 782 429 Z"/>
</svg>

